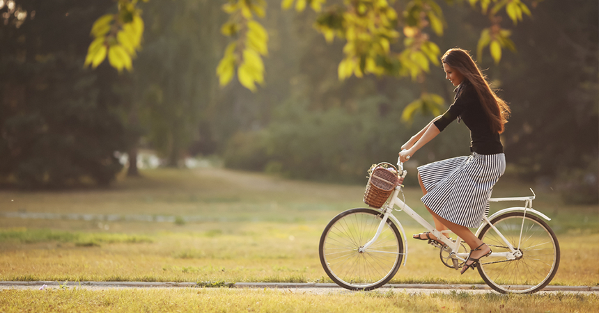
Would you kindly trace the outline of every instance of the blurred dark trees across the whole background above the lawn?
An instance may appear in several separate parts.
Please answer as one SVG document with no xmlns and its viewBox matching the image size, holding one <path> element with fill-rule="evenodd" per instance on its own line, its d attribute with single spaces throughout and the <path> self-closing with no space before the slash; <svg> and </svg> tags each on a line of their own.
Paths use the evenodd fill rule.
<svg viewBox="0 0 599 313">
<path fill-rule="evenodd" d="M 210 155 L 231 168 L 364 182 L 372 163 L 394 161 L 400 145 L 433 117 L 434 106 L 418 106 L 412 120 L 402 120 L 408 105 L 437 94 L 444 111 L 453 99 L 437 65 L 426 80 L 340 81 L 346 42 L 327 42 L 314 29 L 318 13 L 281 10 L 280 0 L 266 1 L 267 15 L 256 17 L 268 34 L 268 54 L 255 92 L 237 79 L 219 86 L 217 67 L 230 44 L 221 34 L 230 18 L 221 10 L 226 1 L 138 3 L 143 42 L 133 70 L 120 73 L 108 62 L 84 68 L 91 26 L 117 12 L 114 1 L 14 0 L 13 9 L 0 1 L 5 186 L 107 184 L 122 168 L 115 152 L 133 159 L 139 148 L 154 150 L 169 166 Z M 469 6 L 439 1 L 446 28 L 428 36 L 441 54 L 451 47 L 472 51 L 511 104 L 502 136 L 510 174 L 561 188 L 568 200 L 597 201 L 598 3 L 529 7 L 532 18 L 520 20 L 510 37 L 516 51 L 504 51 L 500 63 L 489 52 L 477 56 L 489 19 Z M 17 8 L 27 13 L 24 22 Z M 497 22 L 511 26 L 502 14 Z M 411 162 L 467 154 L 468 141 L 466 127 L 454 123 Z"/>
</svg>

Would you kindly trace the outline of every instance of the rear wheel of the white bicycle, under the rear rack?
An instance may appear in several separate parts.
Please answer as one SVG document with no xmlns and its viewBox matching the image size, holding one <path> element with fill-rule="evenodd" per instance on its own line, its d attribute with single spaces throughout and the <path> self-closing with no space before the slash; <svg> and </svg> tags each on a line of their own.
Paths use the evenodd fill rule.
<svg viewBox="0 0 599 313">
<path fill-rule="evenodd" d="M 524 212 L 503 214 L 491 223 L 522 251 L 522 257 L 510 260 L 490 255 L 481 259 L 478 269 L 485 283 L 501 294 L 534 294 L 547 286 L 557 273 L 560 259 L 559 242 L 551 227 L 537 216 L 524 216 Z M 488 224 L 479 239 L 493 252 L 510 251 Z"/>
</svg>

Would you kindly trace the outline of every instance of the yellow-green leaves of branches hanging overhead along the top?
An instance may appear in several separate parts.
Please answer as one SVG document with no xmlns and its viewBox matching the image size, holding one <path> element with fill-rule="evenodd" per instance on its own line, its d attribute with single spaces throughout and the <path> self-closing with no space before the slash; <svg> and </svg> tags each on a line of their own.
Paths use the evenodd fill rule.
<svg viewBox="0 0 599 313">
<path fill-rule="evenodd" d="M 148 1 L 148 0 L 143 0 Z M 228 21 L 221 33 L 232 40 L 224 50 L 216 69 L 221 86 L 235 77 L 245 88 L 256 91 L 265 77 L 263 57 L 268 55 L 268 33 L 256 20 L 266 15 L 265 0 L 223 0 Z M 430 35 L 442 36 L 446 28 L 440 1 L 466 4 L 488 17 L 490 26 L 481 31 L 476 47 L 479 61 L 488 48 L 495 63 L 503 49 L 515 51 L 511 30 L 502 29 L 504 17 L 514 25 L 524 15 L 531 16 L 524 0 L 282 0 L 281 8 L 297 12 L 311 9 L 317 13 L 314 28 L 327 42 L 343 40 L 343 60 L 338 66 L 339 79 L 376 76 L 410 77 L 423 81 L 430 66 L 439 65 L 441 50 Z M 529 0 L 535 7 L 543 0 Z M 118 13 L 104 15 L 93 25 L 86 65 L 97 67 L 106 56 L 117 70 L 132 70 L 132 59 L 141 47 L 143 20 L 138 0 L 118 0 Z M 400 8 L 400 9 L 399 9 Z M 434 99 L 434 100 L 433 100 Z M 438 96 L 423 93 L 420 101 L 410 104 L 420 111 L 436 112 L 442 106 Z M 426 108 L 425 108 L 426 106 Z M 433 109 L 437 106 L 437 109 Z M 408 108 L 406 108 L 408 109 Z M 412 116 L 405 113 L 405 117 Z"/>
</svg>

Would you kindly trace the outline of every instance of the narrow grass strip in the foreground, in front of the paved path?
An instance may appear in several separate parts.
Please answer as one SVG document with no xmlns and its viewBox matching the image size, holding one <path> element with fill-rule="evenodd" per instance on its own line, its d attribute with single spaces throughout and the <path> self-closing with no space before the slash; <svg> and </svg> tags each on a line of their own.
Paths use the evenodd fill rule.
<svg viewBox="0 0 599 313">
<path fill-rule="evenodd" d="M 1 312 L 596 312 L 596 294 L 316 295 L 271 289 L 61 289 L 0 291 Z"/>
</svg>

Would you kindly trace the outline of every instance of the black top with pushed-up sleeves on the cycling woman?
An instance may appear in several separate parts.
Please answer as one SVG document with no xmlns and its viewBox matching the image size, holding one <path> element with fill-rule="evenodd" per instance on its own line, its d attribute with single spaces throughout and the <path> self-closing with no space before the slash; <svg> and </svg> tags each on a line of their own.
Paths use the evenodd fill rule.
<svg viewBox="0 0 599 313">
<path fill-rule="evenodd" d="M 456 100 L 441 118 L 435 121 L 439 131 L 443 131 L 449 123 L 458 118 L 470 130 L 470 151 L 478 154 L 497 154 L 504 152 L 499 141 L 499 133 L 491 130 L 490 120 L 483 111 L 483 105 L 469 81 L 462 81 L 456 88 Z"/>
</svg>

